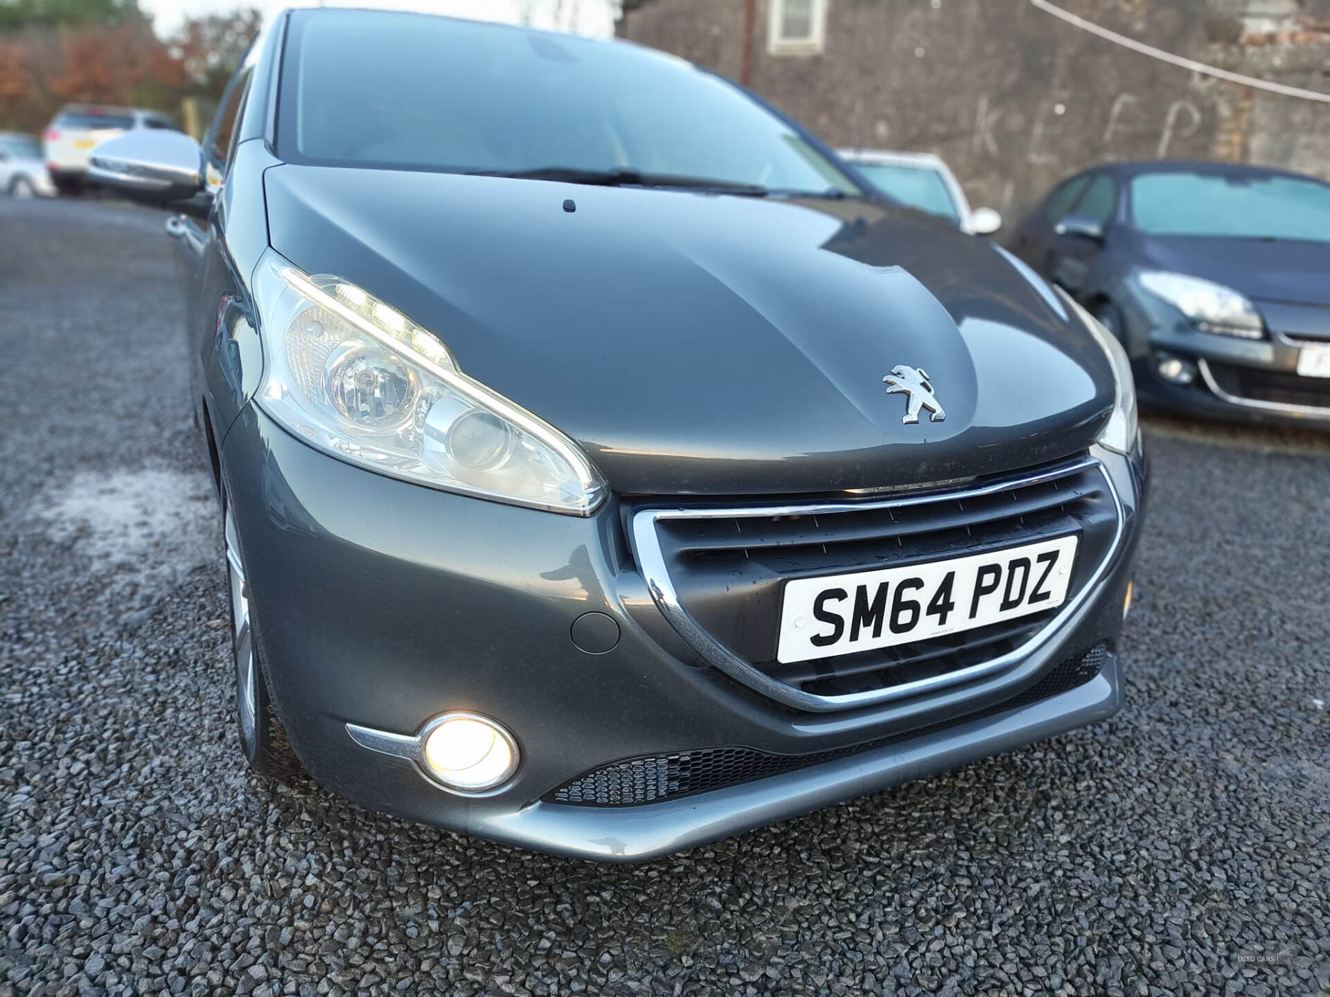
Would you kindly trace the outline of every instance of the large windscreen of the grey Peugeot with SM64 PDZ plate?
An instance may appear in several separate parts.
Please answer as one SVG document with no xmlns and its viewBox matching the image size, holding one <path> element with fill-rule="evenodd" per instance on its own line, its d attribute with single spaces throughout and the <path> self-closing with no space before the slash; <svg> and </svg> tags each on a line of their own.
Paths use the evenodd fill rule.
<svg viewBox="0 0 1330 997">
<path fill-rule="evenodd" d="M 290 162 L 859 193 L 733 85 L 625 43 L 382 11 L 297 12 L 289 39 Z"/>
</svg>

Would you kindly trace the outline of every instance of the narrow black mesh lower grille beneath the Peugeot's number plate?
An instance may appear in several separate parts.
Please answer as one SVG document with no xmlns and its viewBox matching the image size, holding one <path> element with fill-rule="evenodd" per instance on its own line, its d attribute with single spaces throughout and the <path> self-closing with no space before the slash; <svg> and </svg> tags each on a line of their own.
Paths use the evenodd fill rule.
<svg viewBox="0 0 1330 997">
<path fill-rule="evenodd" d="M 1107 654 L 1105 645 L 1095 645 L 1088 651 L 1047 670 L 1041 678 L 1009 699 L 950 720 L 899 731 L 863 744 L 809 755 L 774 755 L 750 747 L 710 747 L 668 755 L 642 755 L 595 768 L 547 794 L 545 799 L 551 803 L 571 803 L 580 807 L 633 807 L 791 772 L 1048 699 L 1095 678 L 1104 667 Z"/>
</svg>

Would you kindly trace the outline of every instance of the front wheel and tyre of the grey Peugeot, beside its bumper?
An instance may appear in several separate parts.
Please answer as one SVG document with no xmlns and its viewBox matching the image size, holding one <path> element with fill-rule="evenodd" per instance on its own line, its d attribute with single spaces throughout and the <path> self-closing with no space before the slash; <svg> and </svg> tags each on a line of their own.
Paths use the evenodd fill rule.
<svg viewBox="0 0 1330 997">
<path fill-rule="evenodd" d="M 222 502 L 226 537 L 226 581 L 231 604 L 234 641 L 231 653 L 235 663 L 235 713 L 241 752 L 258 775 L 291 782 L 303 774 L 303 767 L 286 738 L 282 722 L 273 710 L 273 699 L 263 678 L 258 641 L 250 617 L 249 594 L 245 589 L 245 561 L 241 557 L 239 537 L 230 505 Z"/>
</svg>

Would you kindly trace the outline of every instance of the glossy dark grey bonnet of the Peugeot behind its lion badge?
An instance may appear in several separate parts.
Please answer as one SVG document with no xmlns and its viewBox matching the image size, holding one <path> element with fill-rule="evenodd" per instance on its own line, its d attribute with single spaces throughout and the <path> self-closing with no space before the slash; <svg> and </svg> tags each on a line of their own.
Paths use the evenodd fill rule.
<svg viewBox="0 0 1330 997">
<path fill-rule="evenodd" d="M 986 242 L 859 199 L 283 165 L 274 249 L 430 328 L 618 492 L 918 484 L 1084 451 L 1101 348 Z M 898 366 L 928 375 L 943 419 Z"/>
</svg>

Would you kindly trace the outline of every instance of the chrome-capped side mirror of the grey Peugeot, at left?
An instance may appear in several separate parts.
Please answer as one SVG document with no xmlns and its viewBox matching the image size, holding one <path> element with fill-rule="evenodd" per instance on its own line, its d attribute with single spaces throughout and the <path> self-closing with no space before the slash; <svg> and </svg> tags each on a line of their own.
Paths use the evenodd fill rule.
<svg viewBox="0 0 1330 997">
<path fill-rule="evenodd" d="M 206 213 L 203 150 L 184 132 L 142 128 L 101 142 L 92 150 L 88 175 L 142 205 Z"/>
</svg>

